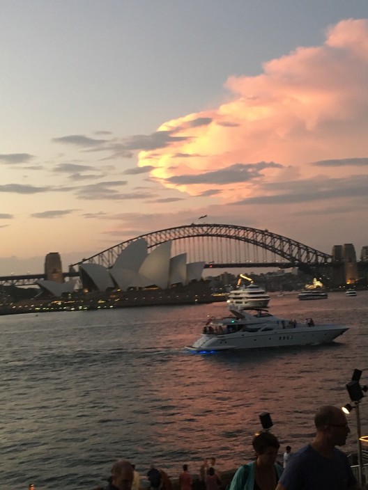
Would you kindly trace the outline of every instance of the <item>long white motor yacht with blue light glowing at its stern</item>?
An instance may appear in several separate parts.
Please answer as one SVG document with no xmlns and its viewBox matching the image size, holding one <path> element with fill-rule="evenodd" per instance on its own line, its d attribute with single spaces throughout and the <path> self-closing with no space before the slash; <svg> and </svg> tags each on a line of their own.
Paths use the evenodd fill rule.
<svg viewBox="0 0 368 490">
<path fill-rule="evenodd" d="M 203 333 L 187 350 L 206 354 L 216 351 L 293 347 L 332 342 L 348 327 L 335 324 L 314 324 L 275 317 L 267 310 L 238 312 L 238 317 L 209 319 Z"/>
</svg>

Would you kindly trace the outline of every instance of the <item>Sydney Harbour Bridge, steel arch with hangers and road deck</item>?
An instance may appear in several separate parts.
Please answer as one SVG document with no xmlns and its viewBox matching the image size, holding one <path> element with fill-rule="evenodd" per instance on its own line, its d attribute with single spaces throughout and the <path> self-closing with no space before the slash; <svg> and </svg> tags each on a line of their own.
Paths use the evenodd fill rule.
<svg viewBox="0 0 368 490">
<path fill-rule="evenodd" d="M 291 238 L 277 235 L 268 230 L 245 226 L 222 224 L 195 224 L 166 228 L 140 235 L 105 249 L 89 258 L 70 264 L 64 277 L 78 275 L 84 263 L 112 267 L 118 255 L 137 239 L 146 240 L 148 251 L 171 240 L 171 255 L 187 253 L 187 262 L 204 261 L 205 267 L 254 268 L 254 267 L 298 267 L 309 274 L 327 276 L 341 266 L 332 255 L 301 244 Z M 1 274 L 1 271 L 0 271 Z M 36 279 L 45 278 L 45 273 L 22 276 L 2 276 L 2 285 L 31 285 Z"/>
</svg>

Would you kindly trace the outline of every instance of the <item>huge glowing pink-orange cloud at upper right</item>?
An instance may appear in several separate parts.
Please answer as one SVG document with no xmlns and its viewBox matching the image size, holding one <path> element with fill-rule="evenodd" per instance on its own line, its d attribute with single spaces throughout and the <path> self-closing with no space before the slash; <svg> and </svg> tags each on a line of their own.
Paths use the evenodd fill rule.
<svg viewBox="0 0 368 490">
<path fill-rule="evenodd" d="M 280 164 L 254 173 L 254 180 L 222 186 L 229 201 L 265 192 L 266 184 L 286 175 L 336 176 L 337 168 L 313 166 L 316 160 L 368 155 L 366 19 L 339 22 L 326 31 L 323 45 L 300 47 L 264 63 L 259 76 L 231 76 L 225 86 L 229 93 L 217 109 L 164 122 L 158 130 L 178 138 L 140 152 L 139 166 L 155 167 L 151 175 L 167 187 L 199 195 L 213 187 L 206 173 L 234 164 Z M 339 177 L 354 172 L 359 169 L 338 168 Z M 172 178 L 202 174 L 200 184 Z"/>
</svg>

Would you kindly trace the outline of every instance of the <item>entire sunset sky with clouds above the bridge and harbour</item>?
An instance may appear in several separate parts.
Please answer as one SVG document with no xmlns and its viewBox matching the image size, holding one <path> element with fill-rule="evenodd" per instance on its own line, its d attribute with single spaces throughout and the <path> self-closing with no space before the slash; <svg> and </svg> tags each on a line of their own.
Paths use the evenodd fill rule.
<svg viewBox="0 0 368 490">
<path fill-rule="evenodd" d="M 0 276 L 204 215 L 368 245 L 367 0 L 0 8 Z"/>
</svg>

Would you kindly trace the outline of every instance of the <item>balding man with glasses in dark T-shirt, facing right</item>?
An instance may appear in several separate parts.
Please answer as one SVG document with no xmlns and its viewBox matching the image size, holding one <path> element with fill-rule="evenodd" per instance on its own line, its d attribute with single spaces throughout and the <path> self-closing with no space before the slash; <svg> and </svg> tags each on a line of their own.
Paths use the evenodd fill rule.
<svg viewBox="0 0 368 490">
<path fill-rule="evenodd" d="M 336 406 L 321 406 L 314 424 L 314 441 L 291 457 L 276 490 L 358 489 L 346 455 L 335 448 L 346 443 L 350 432 L 344 412 Z"/>
</svg>

